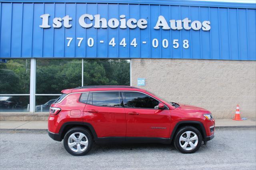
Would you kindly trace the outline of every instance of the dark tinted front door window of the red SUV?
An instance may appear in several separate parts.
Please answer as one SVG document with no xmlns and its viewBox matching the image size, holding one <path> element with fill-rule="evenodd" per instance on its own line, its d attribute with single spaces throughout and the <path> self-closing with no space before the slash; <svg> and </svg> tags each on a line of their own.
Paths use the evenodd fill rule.
<svg viewBox="0 0 256 170">
<path fill-rule="evenodd" d="M 159 101 L 139 92 L 125 91 L 126 107 L 157 109 Z"/>
</svg>

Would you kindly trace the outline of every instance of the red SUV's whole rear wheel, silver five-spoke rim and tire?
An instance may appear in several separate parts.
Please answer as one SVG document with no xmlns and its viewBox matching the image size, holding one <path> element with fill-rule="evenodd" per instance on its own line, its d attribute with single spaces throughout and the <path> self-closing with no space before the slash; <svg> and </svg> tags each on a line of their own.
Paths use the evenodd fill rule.
<svg viewBox="0 0 256 170">
<path fill-rule="evenodd" d="M 68 153 L 74 156 L 87 154 L 92 148 L 92 136 L 85 128 L 72 128 L 64 136 L 63 144 Z"/>
</svg>

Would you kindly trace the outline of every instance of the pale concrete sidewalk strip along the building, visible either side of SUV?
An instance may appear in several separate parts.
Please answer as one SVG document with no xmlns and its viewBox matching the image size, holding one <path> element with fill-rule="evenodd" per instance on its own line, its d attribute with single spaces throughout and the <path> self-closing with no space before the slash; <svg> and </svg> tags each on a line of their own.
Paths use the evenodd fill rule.
<svg viewBox="0 0 256 170">
<path fill-rule="evenodd" d="M 216 128 L 256 127 L 256 121 L 233 121 L 232 119 L 215 120 Z M 47 129 L 47 121 L 0 121 L 0 129 Z"/>
</svg>

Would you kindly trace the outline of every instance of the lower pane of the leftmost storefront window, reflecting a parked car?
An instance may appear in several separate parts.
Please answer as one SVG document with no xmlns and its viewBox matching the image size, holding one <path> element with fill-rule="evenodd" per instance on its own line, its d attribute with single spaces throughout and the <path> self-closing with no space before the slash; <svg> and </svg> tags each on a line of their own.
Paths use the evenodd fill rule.
<svg viewBox="0 0 256 170">
<path fill-rule="evenodd" d="M 0 112 L 29 112 L 29 96 L 0 96 Z"/>
</svg>

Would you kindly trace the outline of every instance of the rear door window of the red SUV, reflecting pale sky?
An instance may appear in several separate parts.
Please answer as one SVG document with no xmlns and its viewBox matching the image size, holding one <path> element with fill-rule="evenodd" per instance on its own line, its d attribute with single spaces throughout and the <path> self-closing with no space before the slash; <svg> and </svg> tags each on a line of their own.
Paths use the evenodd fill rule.
<svg viewBox="0 0 256 170">
<path fill-rule="evenodd" d="M 93 92 L 92 105 L 105 107 L 120 107 L 118 91 Z"/>
</svg>

